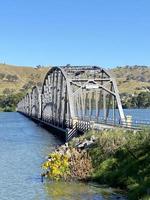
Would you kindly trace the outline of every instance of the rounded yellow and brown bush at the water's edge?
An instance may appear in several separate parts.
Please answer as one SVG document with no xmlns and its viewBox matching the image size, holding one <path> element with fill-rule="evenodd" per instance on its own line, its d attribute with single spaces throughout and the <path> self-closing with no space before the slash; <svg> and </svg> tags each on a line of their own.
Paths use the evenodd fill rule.
<svg viewBox="0 0 150 200">
<path fill-rule="evenodd" d="M 43 163 L 42 176 L 53 180 L 86 180 L 92 172 L 88 152 L 73 146 L 62 145 L 48 155 Z"/>
</svg>

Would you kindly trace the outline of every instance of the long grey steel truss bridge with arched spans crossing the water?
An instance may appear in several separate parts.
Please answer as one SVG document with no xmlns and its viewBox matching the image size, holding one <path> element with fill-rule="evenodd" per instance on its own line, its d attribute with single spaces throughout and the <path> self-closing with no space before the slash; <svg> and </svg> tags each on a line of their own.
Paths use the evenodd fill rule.
<svg viewBox="0 0 150 200">
<path fill-rule="evenodd" d="M 52 67 L 17 111 L 64 132 L 66 140 L 91 126 L 126 123 L 115 79 L 97 66 Z"/>
</svg>

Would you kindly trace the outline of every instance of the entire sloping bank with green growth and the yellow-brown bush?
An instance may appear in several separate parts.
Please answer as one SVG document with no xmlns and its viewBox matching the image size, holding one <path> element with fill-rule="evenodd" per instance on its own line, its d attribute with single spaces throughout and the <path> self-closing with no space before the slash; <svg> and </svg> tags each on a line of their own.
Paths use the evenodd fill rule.
<svg viewBox="0 0 150 200">
<path fill-rule="evenodd" d="M 92 141 L 92 142 L 91 142 Z M 119 187 L 132 200 L 150 199 L 150 130 L 123 129 L 90 131 L 74 138 L 55 151 L 66 160 L 63 170 L 50 154 L 43 164 L 45 176 L 55 179 L 51 166 L 55 166 L 56 179 L 67 177 L 93 180 L 111 187 Z M 63 161 L 64 162 L 64 161 Z M 64 164 L 63 164 L 64 165 Z M 73 168 L 75 168 L 73 170 Z M 76 175 L 75 175 L 76 173 Z"/>
</svg>

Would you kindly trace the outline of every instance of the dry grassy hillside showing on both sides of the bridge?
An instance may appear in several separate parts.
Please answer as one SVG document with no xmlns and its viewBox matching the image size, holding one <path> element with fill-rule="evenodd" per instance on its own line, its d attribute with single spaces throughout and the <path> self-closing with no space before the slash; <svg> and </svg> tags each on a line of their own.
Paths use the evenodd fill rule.
<svg viewBox="0 0 150 200">
<path fill-rule="evenodd" d="M 41 85 L 48 70 L 40 66 L 33 68 L 0 64 L 0 95 L 23 92 L 36 84 Z M 116 77 L 123 95 L 150 91 L 150 67 L 124 66 L 109 71 Z"/>
</svg>

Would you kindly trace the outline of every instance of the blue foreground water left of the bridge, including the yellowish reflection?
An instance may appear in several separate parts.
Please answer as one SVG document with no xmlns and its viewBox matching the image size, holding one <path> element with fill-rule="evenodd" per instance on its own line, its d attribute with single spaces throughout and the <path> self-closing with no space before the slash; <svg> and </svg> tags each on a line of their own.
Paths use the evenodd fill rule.
<svg viewBox="0 0 150 200">
<path fill-rule="evenodd" d="M 42 183 L 41 163 L 58 144 L 56 137 L 19 113 L 0 113 L 0 200 L 125 199 L 93 183 Z"/>
</svg>

